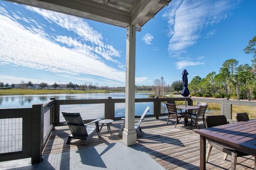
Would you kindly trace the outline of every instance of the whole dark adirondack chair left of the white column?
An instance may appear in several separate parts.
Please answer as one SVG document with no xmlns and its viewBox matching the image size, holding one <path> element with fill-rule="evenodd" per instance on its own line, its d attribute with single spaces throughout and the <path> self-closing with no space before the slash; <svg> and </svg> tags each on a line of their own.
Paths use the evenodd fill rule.
<svg viewBox="0 0 256 170">
<path fill-rule="evenodd" d="M 70 135 L 68 135 L 68 141 L 66 144 L 70 143 L 71 139 L 81 139 L 86 140 L 85 146 L 87 146 L 90 139 L 92 139 L 96 133 L 98 134 L 98 137 L 100 137 L 99 121 L 101 119 L 96 119 L 84 124 L 80 113 L 61 113 L 71 131 Z M 92 123 L 95 123 L 95 125 L 90 125 Z"/>
</svg>

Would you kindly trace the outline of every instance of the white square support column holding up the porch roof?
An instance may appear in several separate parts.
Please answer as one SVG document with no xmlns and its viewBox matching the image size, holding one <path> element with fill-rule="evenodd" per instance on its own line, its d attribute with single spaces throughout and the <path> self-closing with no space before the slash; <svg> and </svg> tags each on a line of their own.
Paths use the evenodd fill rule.
<svg viewBox="0 0 256 170">
<path fill-rule="evenodd" d="M 135 145 L 137 133 L 134 129 L 135 106 L 135 47 L 136 27 L 126 28 L 126 84 L 125 84 L 125 125 L 123 143 L 126 146 Z"/>
</svg>

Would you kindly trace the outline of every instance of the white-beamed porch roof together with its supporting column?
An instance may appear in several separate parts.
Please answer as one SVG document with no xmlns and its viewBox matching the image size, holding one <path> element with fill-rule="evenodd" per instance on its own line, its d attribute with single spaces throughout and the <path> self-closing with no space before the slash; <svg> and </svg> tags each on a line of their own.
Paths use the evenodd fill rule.
<svg viewBox="0 0 256 170">
<path fill-rule="evenodd" d="M 126 98 L 123 143 L 136 144 L 134 129 L 136 31 L 171 0 L 7 0 L 126 28 Z"/>
</svg>

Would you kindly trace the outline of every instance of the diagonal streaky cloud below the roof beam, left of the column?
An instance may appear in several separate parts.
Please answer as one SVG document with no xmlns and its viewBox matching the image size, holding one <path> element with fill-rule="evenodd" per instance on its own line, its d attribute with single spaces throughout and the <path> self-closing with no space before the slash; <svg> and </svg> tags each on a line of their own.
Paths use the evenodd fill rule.
<svg viewBox="0 0 256 170">
<path fill-rule="evenodd" d="M 114 57 L 120 57 L 120 52 L 114 49 L 112 45 L 105 44 L 102 41 L 103 37 L 101 33 L 98 33 L 98 31 L 90 27 L 90 25 L 82 18 L 47 11 L 39 8 L 33 8 L 30 6 L 26 6 L 26 8 L 40 14 L 49 23 L 55 23 L 60 27 L 67 29 L 68 31 L 72 31 L 72 33 L 78 35 L 78 37 L 80 37 L 80 39 L 82 39 L 82 41 L 84 42 L 82 46 L 75 47 L 76 49 L 78 49 L 79 47 L 82 48 L 78 49 L 80 52 L 83 51 L 84 45 L 86 45 L 87 47 L 90 46 L 90 50 L 93 53 L 97 53 L 108 61 L 120 64 L 118 60 L 114 59 Z"/>
</svg>

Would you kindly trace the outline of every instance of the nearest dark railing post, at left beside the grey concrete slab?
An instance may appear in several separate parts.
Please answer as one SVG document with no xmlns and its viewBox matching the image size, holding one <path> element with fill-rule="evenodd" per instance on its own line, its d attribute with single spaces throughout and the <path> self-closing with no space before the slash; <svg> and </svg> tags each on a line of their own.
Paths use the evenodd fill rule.
<svg viewBox="0 0 256 170">
<path fill-rule="evenodd" d="M 43 104 L 32 105 L 31 164 L 41 162 L 44 135 Z"/>
</svg>

